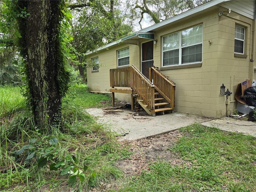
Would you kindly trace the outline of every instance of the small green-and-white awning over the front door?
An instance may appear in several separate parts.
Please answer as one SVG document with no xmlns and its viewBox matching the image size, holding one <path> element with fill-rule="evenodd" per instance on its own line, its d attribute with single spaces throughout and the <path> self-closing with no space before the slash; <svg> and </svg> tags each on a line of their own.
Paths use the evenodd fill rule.
<svg viewBox="0 0 256 192">
<path fill-rule="evenodd" d="M 144 39 L 154 39 L 154 33 L 149 33 L 149 32 L 136 32 L 133 34 L 130 34 L 124 38 L 121 39 L 121 42 L 129 43 L 129 44 L 134 44 L 138 45 L 138 40 L 140 38 Z"/>
</svg>

